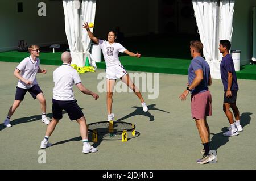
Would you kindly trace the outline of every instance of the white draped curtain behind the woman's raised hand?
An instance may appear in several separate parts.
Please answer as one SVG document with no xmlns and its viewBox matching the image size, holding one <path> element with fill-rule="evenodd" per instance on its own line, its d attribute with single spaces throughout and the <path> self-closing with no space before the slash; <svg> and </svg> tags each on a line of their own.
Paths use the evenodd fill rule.
<svg viewBox="0 0 256 181">
<path fill-rule="evenodd" d="M 65 32 L 72 55 L 72 64 L 84 66 L 86 57 L 88 57 L 90 65 L 96 68 L 96 63 L 89 52 L 91 41 L 87 32 L 82 28 L 84 22 L 94 22 L 96 0 L 82 0 L 79 9 L 76 8 L 74 0 L 63 0 Z M 93 28 L 90 30 L 93 32 Z"/>
</svg>

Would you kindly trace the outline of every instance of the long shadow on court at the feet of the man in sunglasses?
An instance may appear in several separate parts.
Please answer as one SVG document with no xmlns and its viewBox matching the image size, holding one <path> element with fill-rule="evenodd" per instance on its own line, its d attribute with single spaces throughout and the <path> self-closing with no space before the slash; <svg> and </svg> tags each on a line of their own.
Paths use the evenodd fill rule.
<svg viewBox="0 0 256 181">
<path fill-rule="evenodd" d="M 62 111 L 62 114 L 65 114 L 67 113 L 66 111 Z M 34 116 L 30 116 L 30 117 L 22 117 L 22 118 L 19 118 L 19 119 L 14 119 L 14 120 L 11 120 L 10 121 L 10 124 L 11 125 L 16 125 L 16 124 L 22 124 L 22 123 L 31 123 L 31 122 L 34 122 L 34 121 L 41 121 L 41 116 L 42 115 L 34 115 Z M 47 113 L 46 114 L 46 117 L 50 117 L 50 120 L 52 119 L 52 113 Z M 0 131 L 2 129 L 5 129 L 6 127 L 2 124 L 0 124 Z"/>
</svg>

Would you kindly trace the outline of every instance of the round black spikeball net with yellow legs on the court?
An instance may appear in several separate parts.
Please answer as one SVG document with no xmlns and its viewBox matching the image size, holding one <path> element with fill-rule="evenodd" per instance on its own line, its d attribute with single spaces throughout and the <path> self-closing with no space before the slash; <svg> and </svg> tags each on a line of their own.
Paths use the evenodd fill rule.
<svg viewBox="0 0 256 181">
<path fill-rule="evenodd" d="M 92 132 L 92 141 L 99 140 L 122 140 L 122 142 L 130 138 L 137 137 L 139 134 L 135 132 L 135 125 L 122 121 L 101 121 L 88 124 L 88 131 Z"/>
</svg>

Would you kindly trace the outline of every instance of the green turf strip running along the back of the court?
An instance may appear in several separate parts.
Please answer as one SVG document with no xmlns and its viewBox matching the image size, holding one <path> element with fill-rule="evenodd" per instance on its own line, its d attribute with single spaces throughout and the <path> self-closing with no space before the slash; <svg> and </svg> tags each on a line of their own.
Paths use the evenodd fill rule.
<svg viewBox="0 0 256 181">
<path fill-rule="evenodd" d="M 142 46 L 142 45 L 141 45 Z M 142 46 L 143 47 L 143 46 Z M 143 48 L 142 48 L 143 49 Z M 144 48 L 144 50 L 146 50 Z M 44 65 L 61 65 L 60 57 L 62 52 L 55 53 L 40 53 L 40 64 Z M 146 53 L 146 52 L 144 52 Z M 181 52 L 180 52 L 181 53 Z M 149 56 L 160 56 L 159 54 L 146 53 Z M 0 52 L 0 61 L 5 62 L 20 62 L 29 54 L 27 52 L 9 51 Z M 170 55 L 169 55 L 170 56 Z M 173 54 L 177 57 L 177 54 Z M 166 55 L 167 57 L 167 55 Z M 184 57 L 187 57 L 185 55 Z M 102 57 L 103 58 L 103 57 Z M 189 58 L 165 58 L 165 57 L 145 57 L 134 58 L 120 54 L 119 57 L 126 70 L 158 72 L 167 74 L 187 75 L 188 66 L 191 62 Z M 105 61 L 97 62 L 97 68 L 106 69 Z M 237 78 L 240 79 L 256 79 L 256 65 L 243 65 L 241 70 L 236 72 Z"/>
</svg>

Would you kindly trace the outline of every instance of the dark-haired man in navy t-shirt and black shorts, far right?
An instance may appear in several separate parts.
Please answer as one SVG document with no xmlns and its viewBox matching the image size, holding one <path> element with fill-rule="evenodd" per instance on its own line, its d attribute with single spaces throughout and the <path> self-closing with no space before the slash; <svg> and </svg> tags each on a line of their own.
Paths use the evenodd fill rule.
<svg viewBox="0 0 256 181">
<path fill-rule="evenodd" d="M 221 79 L 224 86 L 224 101 L 223 101 L 223 111 L 228 117 L 230 127 L 228 131 L 223 133 L 224 136 L 237 136 L 238 131 L 242 131 L 242 126 L 240 125 L 239 110 L 236 105 L 237 100 L 237 75 L 234 70 L 234 62 L 229 54 L 231 43 L 229 40 L 220 40 L 219 50 L 222 53 L 222 61 L 220 64 Z M 233 114 L 229 110 L 232 108 L 234 117 L 236 118 L 236 123 L 234 123 Z"/>
</svg>

